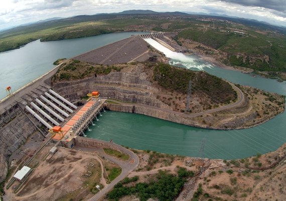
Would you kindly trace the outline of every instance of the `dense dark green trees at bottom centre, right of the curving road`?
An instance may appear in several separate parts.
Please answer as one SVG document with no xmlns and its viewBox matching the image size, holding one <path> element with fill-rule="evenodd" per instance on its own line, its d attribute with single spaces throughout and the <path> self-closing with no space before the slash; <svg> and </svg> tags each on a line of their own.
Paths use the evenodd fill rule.
<svg viewBox="0 0 286 201">
<path fill-rule="evenodd" d="M 107 198 L 109 200 L 119 200 L 120 197 L 136 194 L 140 200 L 147 200 L 151 197 L 162 201 L 173 200 L 182 190 L 186 178 L 190 176 L 185 168 L 180 168 L 179 171 L 180 175 L 176 176 L 160 170 L 148 183 L 140 182 L 135 185 L 125 186 L 123 184 L 126 183 L 119 182 L 107 194 Z M 134 179 L 131 178 L 132 180 Z"/>
</svg>

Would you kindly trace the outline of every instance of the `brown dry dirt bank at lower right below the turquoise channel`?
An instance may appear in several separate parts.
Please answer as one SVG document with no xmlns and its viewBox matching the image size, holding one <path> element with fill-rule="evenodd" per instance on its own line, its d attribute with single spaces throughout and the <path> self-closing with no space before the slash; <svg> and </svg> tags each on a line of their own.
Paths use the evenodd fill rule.
<svg viewBox="0 0 286 201">
<path fill-rule="evenodd" d="M 168 170 L 176 173 L 178 166 L 195 171 L 195 176 L 190 178 L 177 197 L 177 201 L 197 200 L 286 200 L 286 144 L 275 152 L 264 155 L 240 159 L 240 160 L 208 160 L 192 157 L 177 157 L 170 165 L 164 161 L 169 156 L 163 154 L 161 159 L 149 171 L 149 159 L 153 152 L 138 151 L 138 168 L 131 172 L 128 177 L 138 176 L 138 182 L 148 182 L 154 178 L 159 170 Z M 155 152 L 155 154 L 157 154 Z M 151 158 L 153 159 L 154 156 Z M 178 166 L 177 166 L 178 165 Z M 144 169 L 141 169 L 144 167 Z M 202 185 L 202 193 L 194 196 L 199 184 Z M 106 201 L 107 199 L 104 199 Z M 128 195 L 119 199 L 120 201 L 138 201 L 136 195 Z M 153 199 L 152 199 L 153 200 Z"/>
</svg>

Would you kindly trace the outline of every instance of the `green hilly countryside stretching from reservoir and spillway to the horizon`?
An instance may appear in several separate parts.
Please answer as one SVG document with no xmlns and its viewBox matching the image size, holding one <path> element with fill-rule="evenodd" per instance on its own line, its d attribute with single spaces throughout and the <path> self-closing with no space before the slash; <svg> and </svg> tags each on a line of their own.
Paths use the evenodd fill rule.
<svg viewBox="0 0 286 201">
<path fill-rule="evenodd" d="M 68 21 L 62 19 L 2 31 L 0 52 L 20 48 L 37 39 L 64 40 L 120 31 L 179 32 L 175 38 L 178 44 L 181 44 L 180 38 L 191 39 L 223 51 L 227 54 L 223 62 L 228 65 L 286 72 L 286 29 L 231 18 L 216 20 L 216 28 L 211 29 L 212 21 L 201 20 L 202 17 L 191 15 L 172 20 L 168 15 L 78 16 Z M 245 34 L 236 34 L 233 30 Z"/>
</svg>

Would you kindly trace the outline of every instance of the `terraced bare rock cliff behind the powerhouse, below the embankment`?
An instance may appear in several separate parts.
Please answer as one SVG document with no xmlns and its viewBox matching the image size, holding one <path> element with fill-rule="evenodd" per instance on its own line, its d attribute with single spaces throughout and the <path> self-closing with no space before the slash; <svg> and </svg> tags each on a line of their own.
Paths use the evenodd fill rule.
<svg viewBox="0 0 286 201">
<path fill-rule="evenodd" d="M 97 75 L 97 77 L 82 80 L 57 82 L 53 83 L 53 87 L 72 102 L 81 99 L 91 91 L 98 90 L 102 97 L 169 108 L 155 97 L 154 92 L 158 89 L 148 81 L 142 67 L 134 67 L 129 72 L 111 72 L 108 75 Z"/>
</svg>

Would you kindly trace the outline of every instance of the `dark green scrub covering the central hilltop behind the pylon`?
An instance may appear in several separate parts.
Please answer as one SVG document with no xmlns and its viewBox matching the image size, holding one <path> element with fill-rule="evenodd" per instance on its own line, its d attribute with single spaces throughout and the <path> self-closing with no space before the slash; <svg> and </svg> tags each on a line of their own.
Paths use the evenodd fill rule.
<svg viewBox="0 0 286 201">
<path fill-rule="evenodd" d="M 158 63 L 154 68 L 155 81 L 164 88 L 181 93 L 187 93 L 189 81 L 196 91 L 205 93 L 219 103 L 230 103 L 237 98 L 237 94 L 229 83 L 203 71 L 173 67 L 169 64 Z"/>
</svg>

